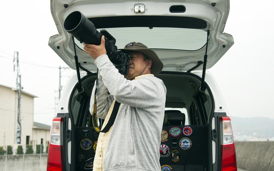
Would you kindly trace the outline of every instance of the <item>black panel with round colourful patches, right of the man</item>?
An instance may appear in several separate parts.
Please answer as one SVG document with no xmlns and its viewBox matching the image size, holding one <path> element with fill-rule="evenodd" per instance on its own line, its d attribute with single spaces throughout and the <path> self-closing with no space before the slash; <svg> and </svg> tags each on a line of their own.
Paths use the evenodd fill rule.
<svg viewBox="0 0 274 171">
<path fill-rule="evenodd" d="M 163 125 L 163 130 L 159 152 L 166 157 L 160 157 L 160 165 L 168 165 L 172 171 L 204 171 L 208 162 L 207 126 Z"/>
</svg>

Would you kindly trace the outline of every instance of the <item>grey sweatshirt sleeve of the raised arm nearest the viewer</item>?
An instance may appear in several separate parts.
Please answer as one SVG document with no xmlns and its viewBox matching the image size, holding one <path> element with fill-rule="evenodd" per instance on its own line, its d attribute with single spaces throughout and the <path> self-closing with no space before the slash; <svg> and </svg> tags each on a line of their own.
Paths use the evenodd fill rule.
<svg viewBox="0 0 274 171">
<path fill-rule="evenodd" d="M 159 83 L 155 79 L 146 76 L 137 80 L 127 80 L 105 54 L 95 59 L 95 65 L 104 85 L 116 101 L 132 107 L 148 108 L 155 105 L 159 89 Z"/>
</svg>

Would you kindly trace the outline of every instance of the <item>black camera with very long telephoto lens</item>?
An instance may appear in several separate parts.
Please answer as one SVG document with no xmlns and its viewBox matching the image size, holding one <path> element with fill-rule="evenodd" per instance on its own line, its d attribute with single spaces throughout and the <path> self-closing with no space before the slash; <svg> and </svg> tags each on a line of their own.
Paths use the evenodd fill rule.
<svg viewBox="0 0 274 171">
<path fill-rule="evenodd" d="M 94 24 L 80 11 L 74 11 L 67 16 L 64 29 L 80 42 L 100 45 L 102 35 L 105 36 L 107 56 L 120 73 L 126 75 L 129 68 L 129 54 L 117 50 L 116 39 L 106 30 L 98 32 Z"/>
</svg>

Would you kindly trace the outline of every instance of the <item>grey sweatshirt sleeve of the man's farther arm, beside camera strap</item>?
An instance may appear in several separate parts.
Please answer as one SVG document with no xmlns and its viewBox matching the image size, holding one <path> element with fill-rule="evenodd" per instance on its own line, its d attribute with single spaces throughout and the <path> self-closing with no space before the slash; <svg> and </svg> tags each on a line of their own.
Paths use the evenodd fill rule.
<svg viewBox="0 0 274 171">
<path fill-rule="evenodd" d="M 94 108 L 94 94 L 96 89 L 96 81 L 92 89 L 92 94 L 90 98 L 90 108 L 89 111 L 92 115 Z M 98 73 L 98 89 L 96 93 L 96 101 L 97 101 L 97 117 L 101 119 L 105 119 L 107 116 L 107 112 L 113 102 L 114 98 L 112 95 L 107 94 L 107 88 L 102 81 L 102 76 L 100 72 Z"/>
</svg>

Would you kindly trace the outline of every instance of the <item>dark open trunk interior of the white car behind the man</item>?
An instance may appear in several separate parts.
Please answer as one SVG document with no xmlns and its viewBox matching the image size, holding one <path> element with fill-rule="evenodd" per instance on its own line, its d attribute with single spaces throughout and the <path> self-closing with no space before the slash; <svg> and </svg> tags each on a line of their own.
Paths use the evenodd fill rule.
<svg viewBox="0 0 274 171">
<path fill-rule="evenodd" d="M 167 157 L 160 157 L 160 165 L 169 165 L 173 170 L 180 171 L 207 170 L 209 159 L 212 159 L 212 146 L 208 143 L 211 141 L 208 134 L 208 130 L 211 130 L 209 120 L 214 110 L 214 102 L 208 86 L 205 92 L 200 92 L 201 78 L 192 73 L 162 72 L 157 77 L 163 80 L 167 88 L 163 130 L 168 133 L 172 127 L 181 129 L 180 134 L 176 136 L 169 134 L 167 138 L 162 131 L 161 145 L 167 145 L 170 154 Z M 96 74 L 85 76 L 82 79 L 84 92 L 78 93 L 75 87 L 70 97 L 70 117 L 74 125 L 72 133 L 75 137 L 74 140 L 72 139 L 72 151 L 75 152 L 74 157 L 71 158 L 72 170 L 92 170 L 99 135 L 92 127 L 92 117 L 89 112 L 95 79 Z M 100 126 L 103 122 L 104 120 L 99 119 Z M 192 129 L 188 136 L 182 133 L 185 126 Z M 190 145 L 189 141 L 184 142 L 185 138 L 191 141 L 189 148 L 187 147 Z M 178 152 L 172 153 L 174 150 Z M 168 152 L 165 156 L 167 154 Z M 163 166 L 162 170 L 169 169 Z"/>
</svg>

